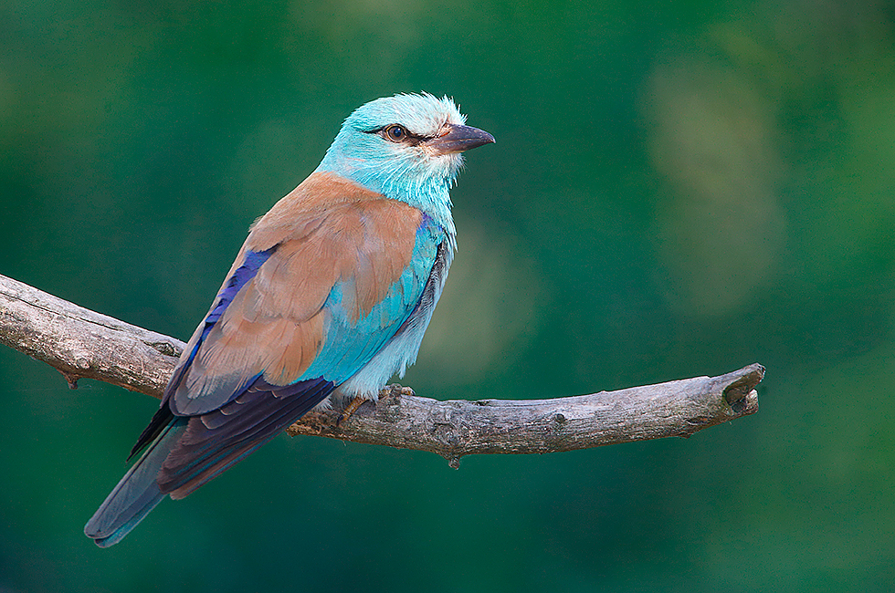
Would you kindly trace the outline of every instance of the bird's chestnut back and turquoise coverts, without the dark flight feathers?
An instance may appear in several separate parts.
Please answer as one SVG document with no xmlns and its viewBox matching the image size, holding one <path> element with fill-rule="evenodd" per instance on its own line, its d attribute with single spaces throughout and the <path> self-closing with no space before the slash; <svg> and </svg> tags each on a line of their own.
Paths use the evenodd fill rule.
<svg viewBox="0 0 895 593">
<path fill-rule="evenodd" d="M 351 377 L 416 307 L 437 251 L 426 222 L 406 203 L 311 175 L 254 225 L 175 372 L 172 411 L 216 410 L 258 377 Z"/>
</svg>

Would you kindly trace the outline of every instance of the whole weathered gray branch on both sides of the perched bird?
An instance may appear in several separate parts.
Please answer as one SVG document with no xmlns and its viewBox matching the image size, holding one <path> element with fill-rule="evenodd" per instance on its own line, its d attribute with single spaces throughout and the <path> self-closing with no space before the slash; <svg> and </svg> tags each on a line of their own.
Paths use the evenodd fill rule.
<svg viewBox="0 0 895 593">
<path fill-rule="evenodd" d="M 80 378 L 161 397 L 184 342 L 78 307 L 0 276 L 0 343 Z M 287 430 L 438 453 L 453 467 L 473 453 L 553 453 L 619 442 L 690 436 L 758 411 L 753 364 L 627 390 L 527 401 L 437 401 L 390 386 L 337 423 L 338 410 L 308 414 Z"/>
</svg>

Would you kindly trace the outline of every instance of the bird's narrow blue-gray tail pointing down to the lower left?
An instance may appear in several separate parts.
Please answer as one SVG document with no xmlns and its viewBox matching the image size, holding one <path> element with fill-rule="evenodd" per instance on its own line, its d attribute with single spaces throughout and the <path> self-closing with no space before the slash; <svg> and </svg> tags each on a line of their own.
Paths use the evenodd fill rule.
<svg viewBox="0 0 895 593">
<path fill-rule="evenodd" d="M 120 542 L 162 501 L 165 494 L 159 489 L 156 478 L 185 428 L 185 418 L 171 421 L 90 517 L 84 533 L 96 541 L 97 546 L 109 547 Z"/>
</svg>

